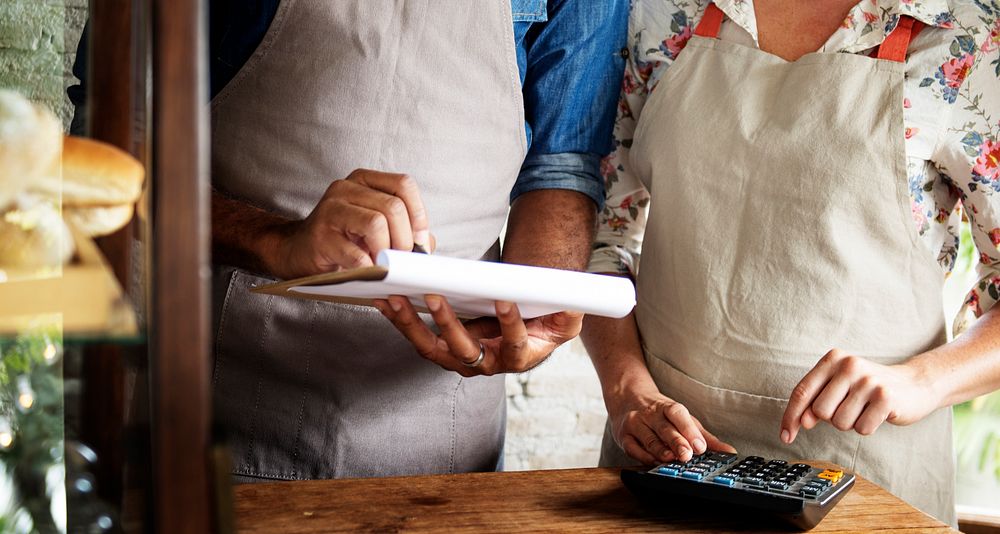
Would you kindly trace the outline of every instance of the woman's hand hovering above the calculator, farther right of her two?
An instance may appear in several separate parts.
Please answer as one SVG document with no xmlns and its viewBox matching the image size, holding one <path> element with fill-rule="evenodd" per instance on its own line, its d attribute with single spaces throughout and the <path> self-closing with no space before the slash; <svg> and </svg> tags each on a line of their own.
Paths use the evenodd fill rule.
<svg viewBox="0 0 1000 534">
<path fill-rule="evenodd" d="M 863 435 L 886 421 L 915 423 L 941 406 L 932 384 L 912 360 L 882 365 L 833 349 L 792 390 L 781 441 L 791 443 L 800 427 L 808 430 L 819 421 Z"/>
</svg>

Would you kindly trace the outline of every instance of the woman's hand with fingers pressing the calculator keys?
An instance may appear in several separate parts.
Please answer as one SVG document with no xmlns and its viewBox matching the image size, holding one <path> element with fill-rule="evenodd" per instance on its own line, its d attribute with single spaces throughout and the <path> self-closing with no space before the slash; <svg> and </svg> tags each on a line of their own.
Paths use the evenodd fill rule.
<svg viewBox="0 0 1000 534">
<path fill-rule="evenodd" d="M 680 460 L 706 450 L 736 452 L 692 416 L 684 405 L 659 391 L 625 389 L 621 398 L 605 393 L 615 442 L 632 458 L 647 464 Z"/>
</svg>

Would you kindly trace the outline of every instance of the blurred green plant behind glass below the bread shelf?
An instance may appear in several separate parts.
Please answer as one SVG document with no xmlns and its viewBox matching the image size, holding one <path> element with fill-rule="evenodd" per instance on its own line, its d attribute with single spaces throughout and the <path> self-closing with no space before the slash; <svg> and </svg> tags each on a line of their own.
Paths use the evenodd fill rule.
<svg viewBox="0 0 1000 534">
<path fill-rule="evenodd" d="M 0 532 L 65 532 L 59 316 L 0 337 Z"/>
</svg>

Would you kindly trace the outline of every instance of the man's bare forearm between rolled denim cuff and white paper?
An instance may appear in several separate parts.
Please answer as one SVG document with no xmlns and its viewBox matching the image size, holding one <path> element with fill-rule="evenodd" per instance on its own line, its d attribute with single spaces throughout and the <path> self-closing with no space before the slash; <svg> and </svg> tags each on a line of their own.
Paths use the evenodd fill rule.
<svg viewBox="0 0 1000 534">
<path fill-rule="evenodd" d="M 596 219 L 594 202 L 582 193 L 524 193 L 510 209 L 503 261 L 582 271 L 590 259 Z"/>
</svg>

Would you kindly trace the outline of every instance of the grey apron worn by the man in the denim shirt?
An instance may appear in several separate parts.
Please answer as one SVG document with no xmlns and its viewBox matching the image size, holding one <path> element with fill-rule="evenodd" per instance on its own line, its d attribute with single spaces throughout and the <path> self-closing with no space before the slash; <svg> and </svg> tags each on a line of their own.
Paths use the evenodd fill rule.
<svg viewBox="0 0 1000 534">
<path fill-rule="evenodd" d="M 525 154 L 509 0 L 284 0 L 212 102 L 215 188 L 294 219 L 357 168 L 415 178 L 437 253 L 496 259 Z M 377 311 L 214 272 L 217 418 L 243 477 L 492 470 L 504 379 L 421 358 Z M 240 478 L 249 480 L 249 478 Z"/>
</svg>

